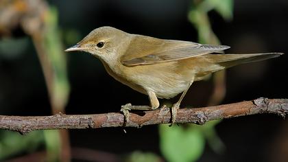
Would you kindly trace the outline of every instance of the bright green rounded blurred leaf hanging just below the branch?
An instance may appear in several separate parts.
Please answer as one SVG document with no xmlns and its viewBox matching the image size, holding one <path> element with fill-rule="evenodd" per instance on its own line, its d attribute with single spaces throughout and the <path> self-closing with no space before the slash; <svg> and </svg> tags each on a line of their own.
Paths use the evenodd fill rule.
<svg viewBox="0 0 288 162">
<path fill-rule="evenodd" d="M 199 128 L 159 126 L 160 150 L 167 161 L 196 161 L 202 155 L 205 140 Z"/>
</svg>

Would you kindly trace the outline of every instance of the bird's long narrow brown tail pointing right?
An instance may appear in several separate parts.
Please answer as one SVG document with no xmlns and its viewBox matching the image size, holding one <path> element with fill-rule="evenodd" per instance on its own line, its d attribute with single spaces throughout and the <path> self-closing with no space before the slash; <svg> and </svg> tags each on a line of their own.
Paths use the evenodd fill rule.
<svg viewBox="0 0 288 162">
<path fill-rule="evenodd" d="M 245 64 L 248 62 L 256 62 L 261 60 L 267 60 L 269 58 L 276 58 L 283 53 L 264 53 L 264 54 L 211 54 L 209 58 L 214 63 L 221 65 L 222 67 L 232 67 L 239 64 Z"/>
</svg>

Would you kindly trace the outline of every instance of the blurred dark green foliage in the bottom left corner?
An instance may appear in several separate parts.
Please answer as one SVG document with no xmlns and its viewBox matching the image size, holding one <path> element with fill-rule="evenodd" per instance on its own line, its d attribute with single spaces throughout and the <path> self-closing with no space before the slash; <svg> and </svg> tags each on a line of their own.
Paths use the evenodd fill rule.
<svg viewBox="0 0 288 162">
<path fill-rule="evenodd" d="M 30 132 L 28 135 L 20 135 L 19 132 L 0 132 L 0 161 L 14 154 L 34 152 L 39 144 L 44 143 L 42 130 Z"/>
</svg>

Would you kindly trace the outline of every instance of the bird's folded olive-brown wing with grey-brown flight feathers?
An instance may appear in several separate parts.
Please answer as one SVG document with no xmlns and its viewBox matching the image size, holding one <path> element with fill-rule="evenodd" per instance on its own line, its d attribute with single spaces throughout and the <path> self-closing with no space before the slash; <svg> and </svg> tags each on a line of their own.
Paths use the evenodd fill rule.
<svg viewBox="0 0 288 162">
<path fill-rule="evenodd" d="M 121 57 L 121 63 L 125 66 L 151 65 L 210 54 L 228 48 L 230 47 L 226 45 L 201 45 L 181 40 L 163 40 L 135 35 Z"/>
</svg>

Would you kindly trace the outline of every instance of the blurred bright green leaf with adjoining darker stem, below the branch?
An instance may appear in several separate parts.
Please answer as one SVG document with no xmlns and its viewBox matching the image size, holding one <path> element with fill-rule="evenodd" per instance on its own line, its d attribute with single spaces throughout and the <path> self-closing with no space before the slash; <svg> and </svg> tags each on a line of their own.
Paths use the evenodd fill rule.
<svg viewBox="0 0 288 162">
<path fill-rule="evenodd" d="M 217 153 L 224 151 L 225 146 L 217 136 L 215 126 L 220 120 L 207 122 L 204 126 L 185 124 L 159 126 L 160 149 L 168 161 L 196 161 L 204 151 L 206 141 Z"/>
</svg>

